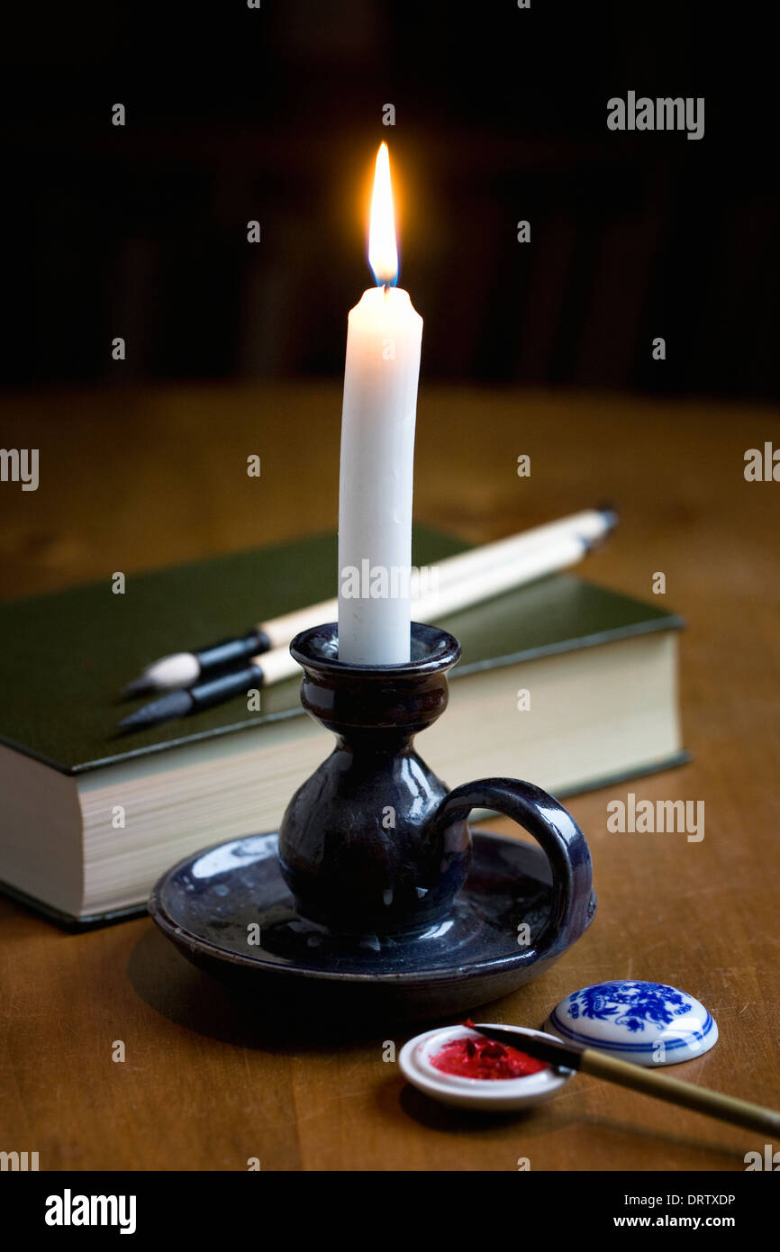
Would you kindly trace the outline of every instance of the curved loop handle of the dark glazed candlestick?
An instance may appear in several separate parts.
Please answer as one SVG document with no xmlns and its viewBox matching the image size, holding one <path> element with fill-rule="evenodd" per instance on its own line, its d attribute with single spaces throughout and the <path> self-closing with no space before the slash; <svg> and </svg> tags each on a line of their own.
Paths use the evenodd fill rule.
<svg viewBox="0 0 780 1252">
<path fill-rule="evenodd" d="M 428 823 L 434 844 L 468 819 L 472 809 L 496 809 L 533 835 L 552 870 L 552 904 L 547 925 L 525 954 L 527 962 L 552 960 L 582 934 L 596 910 L 591 854 L 571 814 L 532 782 L 480 779 L 449 791 Z M 522 918 L 517 919 L 518 930 Z"/>
</svg>

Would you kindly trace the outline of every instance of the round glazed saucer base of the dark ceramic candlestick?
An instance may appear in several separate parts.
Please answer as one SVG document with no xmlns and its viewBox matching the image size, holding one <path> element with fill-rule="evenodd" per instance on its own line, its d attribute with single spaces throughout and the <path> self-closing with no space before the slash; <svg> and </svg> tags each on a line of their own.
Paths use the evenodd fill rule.
<svg viewBox="0 0 780 1252">
<path fill-rule="evenodd" d="M 541 849 L 482 831 L 472 843 L 449 914 L 411 936 L 339 936 L 299 916 L 279 871 L 277 834 L 218 844 L 174 865 L 149 911 L 188 960 L 259 1008 L 434 1019 L 506 995 L 572 942 L 552 930 Z M 588 921 L 593 910 L 595 896 Z"/>
</svg>

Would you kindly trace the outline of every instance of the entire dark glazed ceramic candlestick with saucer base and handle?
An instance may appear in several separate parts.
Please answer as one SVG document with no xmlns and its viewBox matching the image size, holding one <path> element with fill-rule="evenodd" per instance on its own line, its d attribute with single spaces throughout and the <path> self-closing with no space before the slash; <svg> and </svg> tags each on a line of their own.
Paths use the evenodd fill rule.
<svg viewBox="0 0 780 1252">
<path fill-rule="evenodd" d="M 457 640 L 413 623 L 407 665 L 348 665 L 328 625 L 292 651 L 303 707 L 336 749 L 278 835 L 217 844 L 163 875 L 149 900 L 163 933 L 263 1012 L 342 1024 L 461 1013 L 545 970 L 593 916 L 590 853 L 573 818 L 532 784 L 447 791 L 417 755 L 414 734 L 447 706 Z M 541 850 L 471 835 L 475 808 L 513 818 Z"/>
</svg>

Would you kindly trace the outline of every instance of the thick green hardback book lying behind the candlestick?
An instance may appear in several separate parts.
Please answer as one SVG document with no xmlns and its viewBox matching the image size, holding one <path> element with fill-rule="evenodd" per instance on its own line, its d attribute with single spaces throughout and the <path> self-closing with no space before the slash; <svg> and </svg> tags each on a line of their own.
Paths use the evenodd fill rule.
<svg viewBox="0 0 780 1252">
<path fill-rule="evenodd" d="M 462 541 L 417 530 L 414 563 Z M 329 752 L 298 679 L 119 737 L 151 660 L 316 603 L 336 536 L 0 605 L 0 883 L 73 925 L 138 911 L 198 848 L 277 828 Z M 560 573 L 443 618 L 461 641 L 446 715 L 417 746 L 452 786 L 511 775 L 566 795 L 685 759 L 674 615 Z M 131 705 L 130 707 L 134 707 Z"/>
</svg>

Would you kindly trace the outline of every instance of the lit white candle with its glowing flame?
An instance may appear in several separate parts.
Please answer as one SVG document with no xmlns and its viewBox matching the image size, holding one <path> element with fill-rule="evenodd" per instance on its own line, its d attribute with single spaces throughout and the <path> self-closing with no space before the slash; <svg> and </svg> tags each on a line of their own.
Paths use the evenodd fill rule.
<svg viewBox="0 0 780 1252">
<path fill-rule="evenodd" d="M 409 660 L 412 478 L 422 318 L 392 284 L 398 253 L 387 144 L 377 154 L 368 260 L 349 313 L 338 507 L 338 656 Z"/>
</svg>

